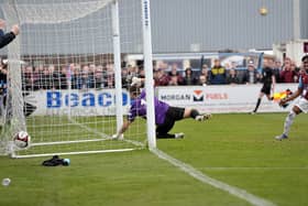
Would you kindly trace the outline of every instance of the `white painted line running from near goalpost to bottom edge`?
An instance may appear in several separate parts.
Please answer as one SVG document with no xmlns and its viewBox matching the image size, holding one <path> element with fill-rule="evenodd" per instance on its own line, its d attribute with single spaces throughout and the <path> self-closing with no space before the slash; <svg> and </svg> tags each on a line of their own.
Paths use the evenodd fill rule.
<svg viewBox="0 0 308 206">
<path fill-rule="evenodd" d="M 246 202 L 249 202 L 252 205 L 256 205 L 256 206 L 275 206 L 274 203 L 264 199 L 262 197 L 255 196 L 253 194 L 248 193 L 246 191 L 239 188 L 237 186 L 231 186 L 227 183 L 223 183 L 221 181 L 218 181 L 216 178 L 212 178 L 208 175 L 206 175 L 205 173 L 196 170 L 195 167 L 190 166 L 189 164 L 186 164 L 168 154 L 166 154 L 165 152 L 158 150 L 158 149 L 150 149 L 151 152 L 153 152 L 155 155 L 157 155 L 160 159 L 165 160 L 167 162 L 169 162 L 170 164 L 173 164 L 174 166 L 178 167 L 179 170 L 182 170 L 183 172 L 187 173 L 188 175 L 193 176 L 194 178 L 205 183 L 205 184 L 209 184 L 216 188 L 219 188 L 221 191 L 228 192 L 231 195 L 234 195 L 241 199 L 244 199 Z"/>
</svg>

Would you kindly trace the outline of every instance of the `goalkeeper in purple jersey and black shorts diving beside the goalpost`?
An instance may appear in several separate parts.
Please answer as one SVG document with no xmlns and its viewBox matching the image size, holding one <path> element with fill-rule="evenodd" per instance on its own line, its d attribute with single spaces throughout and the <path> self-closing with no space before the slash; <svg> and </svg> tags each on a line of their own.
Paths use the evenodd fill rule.
<svg viewBox="0 0 308 206">
<path fill-rule="evenodd" d="M 139 116 L 146 118 L 146 100 L 145 100 L 145 90 L 141 91 L 141 85 L 143 79 L 133 78 L 132 85 L 130 87 L 130 96 L 132 105 L 129 111 L 128 120 L 124 121 L 123 126 L 113 139 L 123 139 L 123 133 L 128 130 L 130 124 Z M 166 102 L 160 101 L 154 97 L 154 107 L 155 107 L 155 124 L 156 124 L 156 138 L 157 139 L 179 139 L 184 138 L 184 133 L 168 133 L 169 130 L 174 127 L 175 121 L 193 118 L 196 121 L 204 121 L 211 117 L 210 113 L 201 115 L 198 110 L 191 108 L 179 108 L 172 107 Z"/>
</svg>

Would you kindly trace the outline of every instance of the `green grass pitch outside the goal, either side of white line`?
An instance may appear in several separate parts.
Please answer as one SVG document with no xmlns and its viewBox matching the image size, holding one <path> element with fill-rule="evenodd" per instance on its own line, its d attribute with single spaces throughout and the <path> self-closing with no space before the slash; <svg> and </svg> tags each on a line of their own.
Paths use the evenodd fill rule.
<svg viewBox="0 0 308 206">
<path fill-rule="evenodd" d="M 286 113 L 215 115 L 208 122 L 183 120 L 158 148 L 205 174 L 276 205 L 308 205 L 308 116 L 296 118 L 289 139 L 275 141 Z M 46 158 L 0 156 L 2 206 L 249 205 L 200 183 L 147 150 L 72 155 L 70 166 L 44 167 Z"/>
</svg>

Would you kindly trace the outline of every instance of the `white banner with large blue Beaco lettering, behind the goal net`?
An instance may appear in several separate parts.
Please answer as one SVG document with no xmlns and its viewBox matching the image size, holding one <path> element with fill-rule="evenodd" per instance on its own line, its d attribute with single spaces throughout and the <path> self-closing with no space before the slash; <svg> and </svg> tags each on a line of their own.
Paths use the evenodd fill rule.
<svg viewBox="0 0 308 206">
<path fill-rule="evenodd" d="M 26 110 L 32 116 L 109 116 L 116 115 L 114 89 L 25 91 Z M 123 110 L 130 107 L 127 90 L 122 93 Z"/>
</svg>

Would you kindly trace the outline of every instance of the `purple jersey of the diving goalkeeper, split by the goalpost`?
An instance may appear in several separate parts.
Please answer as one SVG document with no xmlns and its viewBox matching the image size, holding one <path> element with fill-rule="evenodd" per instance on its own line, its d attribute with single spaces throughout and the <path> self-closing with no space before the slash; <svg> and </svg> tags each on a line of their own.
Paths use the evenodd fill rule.
<svg viewBox="0 0 308 206">
<path fill-rule="evenodd" d="M 169 106 L 163 101 L 160 101 L 154 97 L 155 106 L 155 123 L 162 124 L 165 121 L 166 112 Z M 132 102 L 129 111 L 129 121 L 134 121 L 134 119 L 140 116 L 146 118 L 146 100 L 145 100 L 145 90 L 143 89 L 140 96 Z"/>
</svg>

